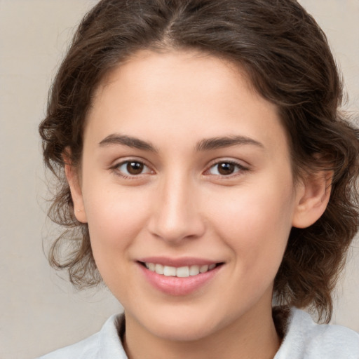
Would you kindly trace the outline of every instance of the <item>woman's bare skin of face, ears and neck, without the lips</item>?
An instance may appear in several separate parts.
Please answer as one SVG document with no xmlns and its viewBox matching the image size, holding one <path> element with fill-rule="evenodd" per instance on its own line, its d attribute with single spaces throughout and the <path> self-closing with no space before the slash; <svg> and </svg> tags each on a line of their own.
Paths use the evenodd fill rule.
<svg viewBox="0 0 359 359">
<path fill-rule="evenodd" d="M 233 136 L 241 141 L 204 145 Z M 223 174 L 218 163 L 235 164 Z M 97 89 L 81 168 L 66 173 L 97 267 L 125 309 L 129 358 L 273 358 L 273 279 L 290 229 L 316 222 L 329 191 L 318 174 L 294 185 L 276 107 L 241 69 L 184 50 L 135 54 Z M 176 296 L 137 262 L 159 254 L 224 264 Z"/>
</svg>

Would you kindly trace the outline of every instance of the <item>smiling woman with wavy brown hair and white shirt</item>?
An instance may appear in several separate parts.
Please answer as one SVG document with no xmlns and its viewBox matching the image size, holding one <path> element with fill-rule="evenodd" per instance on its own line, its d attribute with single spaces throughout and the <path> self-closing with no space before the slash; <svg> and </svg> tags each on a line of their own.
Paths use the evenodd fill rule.
<svg viewBox="0 0 359 359">
<path fill-rule="evenodd" d="M 51 262 L 124 316 L 44 358 L 358 358 L 299 310 L 330 320 L 358 231 L 341 91 L 297 1 L 100 1 L 40 133 L 68 227 Z"/>
</svg>

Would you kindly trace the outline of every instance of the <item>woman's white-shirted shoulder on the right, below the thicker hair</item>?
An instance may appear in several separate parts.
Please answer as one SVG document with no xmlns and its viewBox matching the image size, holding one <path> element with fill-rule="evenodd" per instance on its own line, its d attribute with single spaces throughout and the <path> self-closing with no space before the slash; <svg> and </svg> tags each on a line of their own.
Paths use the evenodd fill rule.
<svg viewBox="0 0 359 359">
<path fill-rule="evenodd" d="M 358 359 L 359 334 L 339 325 L 318 325 L 308 313 L 292 309 L 275 359 Z"/>
</svg>

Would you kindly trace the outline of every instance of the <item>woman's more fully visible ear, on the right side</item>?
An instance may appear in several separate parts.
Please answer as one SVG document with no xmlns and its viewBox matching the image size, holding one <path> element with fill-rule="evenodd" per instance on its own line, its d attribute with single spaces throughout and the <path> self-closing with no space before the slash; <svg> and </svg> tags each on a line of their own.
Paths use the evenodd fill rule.
<svg viewBox="0 0 359 359">
<path fill-rule="evenodd" d="M 302 179 L 297 186 L 297 201 L 292 226 L 309 227 L 323 215 L 330 199 L 332 178 L 332 171 L 320 170 Z"/>
</svg>

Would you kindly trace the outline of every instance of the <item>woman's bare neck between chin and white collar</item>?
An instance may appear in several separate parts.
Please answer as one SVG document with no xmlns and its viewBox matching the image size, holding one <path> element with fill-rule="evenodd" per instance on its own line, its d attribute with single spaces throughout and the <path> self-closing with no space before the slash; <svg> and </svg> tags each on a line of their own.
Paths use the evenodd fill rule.
<svg viewBox="0 0 359 359">
<path fill-rule="evenodd" d="M 215 333 L 194 341 L 156 337 L 126 315 L 128 359 L 272 359 L 280 346 L 271 309 L 246 313 Z M 139 345 L 140 343 L 140 345 Z"/>
</svg>

